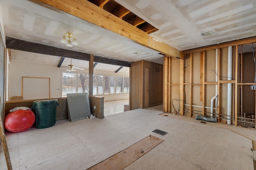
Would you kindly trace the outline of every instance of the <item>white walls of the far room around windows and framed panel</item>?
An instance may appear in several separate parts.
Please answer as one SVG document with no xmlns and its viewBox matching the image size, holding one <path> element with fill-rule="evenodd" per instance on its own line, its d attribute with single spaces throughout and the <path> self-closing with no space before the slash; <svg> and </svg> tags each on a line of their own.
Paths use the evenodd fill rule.
<svg viewBox="0 0 256 170">
<path fill-rule="evenodd" d="M 50 78 L 51 98 L 62 97 L 62 70 L 57 66 L 46 64 L 35 64 L 18 61 L 10 61 L 10 98 L 22 95 L 22 76 Z M 80 73 L 88 74 L 88 70 L 79 70 Z M 114 73 L 101 70 L 94 70 L 94 74 L 104 74 L 113 76 L 127 76 L 128 73 Z M 103 96 L 104 101 L 124 100 L 129 98 L 129 93 L 97 95 Z M 25 99 L 24 100 L 28 100 Z"/>
</svg>

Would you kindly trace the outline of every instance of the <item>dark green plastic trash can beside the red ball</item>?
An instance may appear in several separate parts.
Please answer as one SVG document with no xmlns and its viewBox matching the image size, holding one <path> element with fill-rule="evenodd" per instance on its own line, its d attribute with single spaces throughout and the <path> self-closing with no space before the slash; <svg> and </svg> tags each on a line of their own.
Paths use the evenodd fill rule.
<svg viewBox="0 0 256 170">
<path fill-rule="evenodd" d="M 36 100 L 31 106 L 35 109 L 35 125 L 37 129 L 52 127 L 56 122 L 56 106 L 59 106 L 58 100 Z"/>
</svg>

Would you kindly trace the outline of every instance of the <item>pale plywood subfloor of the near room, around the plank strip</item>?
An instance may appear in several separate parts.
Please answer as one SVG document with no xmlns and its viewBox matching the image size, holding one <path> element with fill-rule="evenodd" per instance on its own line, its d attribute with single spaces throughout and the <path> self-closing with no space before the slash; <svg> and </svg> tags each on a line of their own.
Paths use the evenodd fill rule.
<svg viewBox="0 0 256 170">
<path fill-rule="evenodd" d="M 210 124 L 162 116 L 158 108 L 126 111 L 104 119 L 63 120 L 46 129 L 6 133 L 12 167 L 85 170 L 154 135 L 164 141 L 126 170 L 253 170 L 251 139 Z M 154 129 L 168 134 L 158 135 Z M 255 135 L 255 131 L 243 129 Z M 0 170 L 6 170 L 2 147 Z"/>
</svg>

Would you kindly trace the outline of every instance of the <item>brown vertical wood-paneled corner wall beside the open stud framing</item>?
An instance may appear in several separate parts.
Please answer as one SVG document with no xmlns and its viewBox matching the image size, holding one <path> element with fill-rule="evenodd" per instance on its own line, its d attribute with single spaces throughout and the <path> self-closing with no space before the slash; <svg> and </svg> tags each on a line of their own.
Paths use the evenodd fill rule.
<svg viewBox="0 0 256 170">
<path fill-rule="evenodd" d="M 149 69 L 148 84 L 144 84 L 144 68 Z M 144 88 L 149 89 L 149 106 L 163 103 L 163 65 L 149 61 L 131 63 L 130 68 L 130 109 L 145 108 Z"/>
</svg>

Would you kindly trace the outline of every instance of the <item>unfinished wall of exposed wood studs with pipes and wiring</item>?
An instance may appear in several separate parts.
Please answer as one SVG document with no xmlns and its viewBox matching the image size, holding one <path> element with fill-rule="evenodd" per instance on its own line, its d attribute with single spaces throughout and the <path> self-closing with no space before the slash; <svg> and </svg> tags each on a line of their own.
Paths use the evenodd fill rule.
<svg viewBox="0 0 256 170">
<path fill-rule="evenodd" d="M 164 111 L 255 127 L 255 42 L 246 39 L 183 51 L 184 60 L 164 57 Z"/>
</svg>

